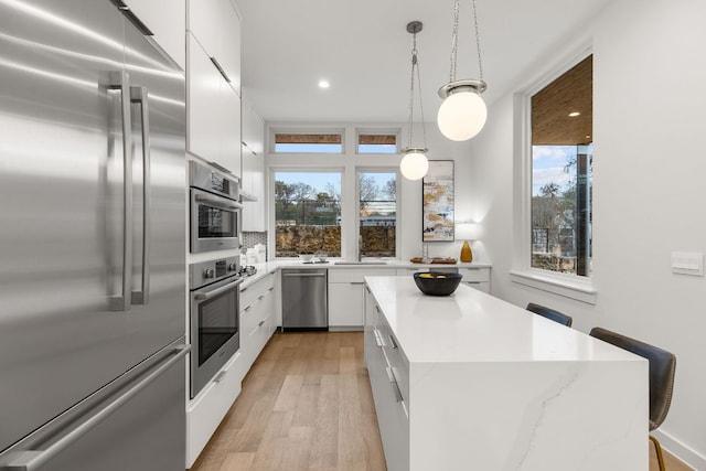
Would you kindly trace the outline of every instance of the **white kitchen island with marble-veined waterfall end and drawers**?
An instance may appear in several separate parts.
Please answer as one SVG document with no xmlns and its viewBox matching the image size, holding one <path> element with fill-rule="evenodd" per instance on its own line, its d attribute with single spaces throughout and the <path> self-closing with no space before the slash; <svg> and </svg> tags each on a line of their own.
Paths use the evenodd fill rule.
<svg viewBox="0 0 706 471">
<path fill-rule="evenodd" d="M 389 471 L 646 471 L 648 362 L 467 286 L 365 278 Z"/>
</svg>

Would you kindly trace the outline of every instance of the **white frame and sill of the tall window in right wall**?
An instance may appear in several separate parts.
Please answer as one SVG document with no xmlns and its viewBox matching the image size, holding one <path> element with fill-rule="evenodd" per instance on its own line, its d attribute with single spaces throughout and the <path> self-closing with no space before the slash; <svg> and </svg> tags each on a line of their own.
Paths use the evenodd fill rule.
<svg viewBox="0 0 706 471">
<path fill-rule="evenodd" d="M 515 207 L 518 208 L 515 213 L 518 224 L 514 232 L 516 256 L 510 277 L 518 285 L 596 304 L 598 292 L 592 276 L 563 274 L 532 267 L 532 97 L 591 54 L 593 51 L 590 45 L 582 47 L 514 95 L 513 114 L 517 126 L 515 126 L 513 139 L 515 156 L 513 180 L 514 188 L 520 191 L 515 193 Z M 595 256 L 593 250 L 593 259 Z"/>
</svg>

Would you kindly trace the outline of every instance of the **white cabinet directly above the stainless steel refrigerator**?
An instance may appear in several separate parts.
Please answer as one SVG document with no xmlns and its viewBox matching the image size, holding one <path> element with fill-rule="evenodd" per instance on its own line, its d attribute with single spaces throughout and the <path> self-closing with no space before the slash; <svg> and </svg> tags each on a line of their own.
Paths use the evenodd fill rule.
<svg viewBox="0 0 706 471">
<path fill-rule="evenodd" d="M 125 0 L 152 40 L 186 69 L 186 0 Z"/>
</svg>

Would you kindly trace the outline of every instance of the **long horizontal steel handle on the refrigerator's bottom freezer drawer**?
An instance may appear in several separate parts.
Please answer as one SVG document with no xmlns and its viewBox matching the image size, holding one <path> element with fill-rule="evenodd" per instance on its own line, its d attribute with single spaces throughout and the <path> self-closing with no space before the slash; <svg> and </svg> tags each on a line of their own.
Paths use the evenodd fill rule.
<svg viewBox="0 0 706 471">
<path fill-rule="evenodd" d="M 14 459 L 3 464 L 0 471 L 35 471 L 40 470 L 49 460 L 61 453 L 64 449 L 69 447 L 73 442 L 78 440 L 85 433 L 89 432 L 94 427 L 107 419 L 113 413 L 117 411 L 132 397 L 139 394 L 142 389 L 152 384 L 159 378 L 167 370 L 171 368 L 174 363 L 181 361 L 186 353 L 191 350 L 191 345 L 179 345 L 173 350 L 173 356 L 162 363 L 161 366 L 156 368 L 152 373 L 147 375 L 143 379 L 130 387 L 125 394 L 120 395 L 117 399 L 108 404 L 98 414 L 90 417 L 88 420 L 66 433 L 61 439 L 56 440 L 45 450 L 28 450 L 18 452 Z"/>
</svg>

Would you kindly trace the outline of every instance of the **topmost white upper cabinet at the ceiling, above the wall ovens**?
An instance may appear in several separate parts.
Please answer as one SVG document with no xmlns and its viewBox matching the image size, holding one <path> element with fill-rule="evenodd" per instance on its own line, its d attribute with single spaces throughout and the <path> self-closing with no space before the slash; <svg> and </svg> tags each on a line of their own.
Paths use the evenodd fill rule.
<svg viewBox="0 0 706 471">
<path fill-rule="evenodd" d="M 240 18 L 231 0 L 190 0 L 188 29 L 240 96 Z"/>
</svg>

